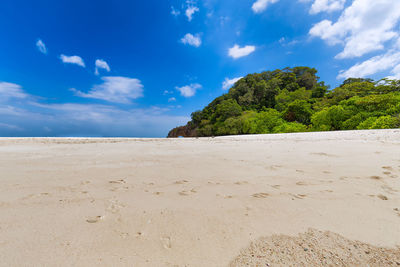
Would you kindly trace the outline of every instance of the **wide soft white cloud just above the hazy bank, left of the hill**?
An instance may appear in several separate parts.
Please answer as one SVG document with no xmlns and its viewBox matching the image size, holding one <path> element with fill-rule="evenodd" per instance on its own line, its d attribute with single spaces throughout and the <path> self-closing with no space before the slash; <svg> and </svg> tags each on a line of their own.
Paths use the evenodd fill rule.
<svg viewBox="0 0 400 267">
<path fill-rule="evenodd" d="M 102 77 L 104 82 L 92 87 L 88 93 L 74 88 L 75 95 L 85 98 L 101 99 L 109 102 L 129 104 L 131 100 L 143 96 L 143 85 L 140 80 L 128 77 Z"/>
</svg>

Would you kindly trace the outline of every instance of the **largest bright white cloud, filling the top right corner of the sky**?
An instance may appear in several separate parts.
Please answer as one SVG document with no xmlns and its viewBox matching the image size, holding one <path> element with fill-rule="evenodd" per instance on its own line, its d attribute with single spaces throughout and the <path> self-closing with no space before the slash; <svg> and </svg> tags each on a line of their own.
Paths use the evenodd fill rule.
<svg viewBox="0 0 400 267">
<path fill-rule="evenodd" d="M 383 50 L 387 41 L 399 36 L 395 28 L 399 20 L 398 0 L 354 0 L 337 22 L 323 20 L 309 33 L 329 45 L 344 45 L 336 58 L 354 58 Z"/>
</svg>

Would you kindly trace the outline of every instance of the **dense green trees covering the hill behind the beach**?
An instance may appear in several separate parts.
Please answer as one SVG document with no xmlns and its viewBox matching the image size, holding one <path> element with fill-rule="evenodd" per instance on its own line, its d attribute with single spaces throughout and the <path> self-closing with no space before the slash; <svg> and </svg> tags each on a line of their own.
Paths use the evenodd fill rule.
<svg viewBox="0 0 400 267">
<path fill-rule="evenodd" d="M 329 90 L 316 73 L 295 67 L 249 74 L 169 136 L 400 127 L 399 80 L 350 78 Z"/>
</svg>

